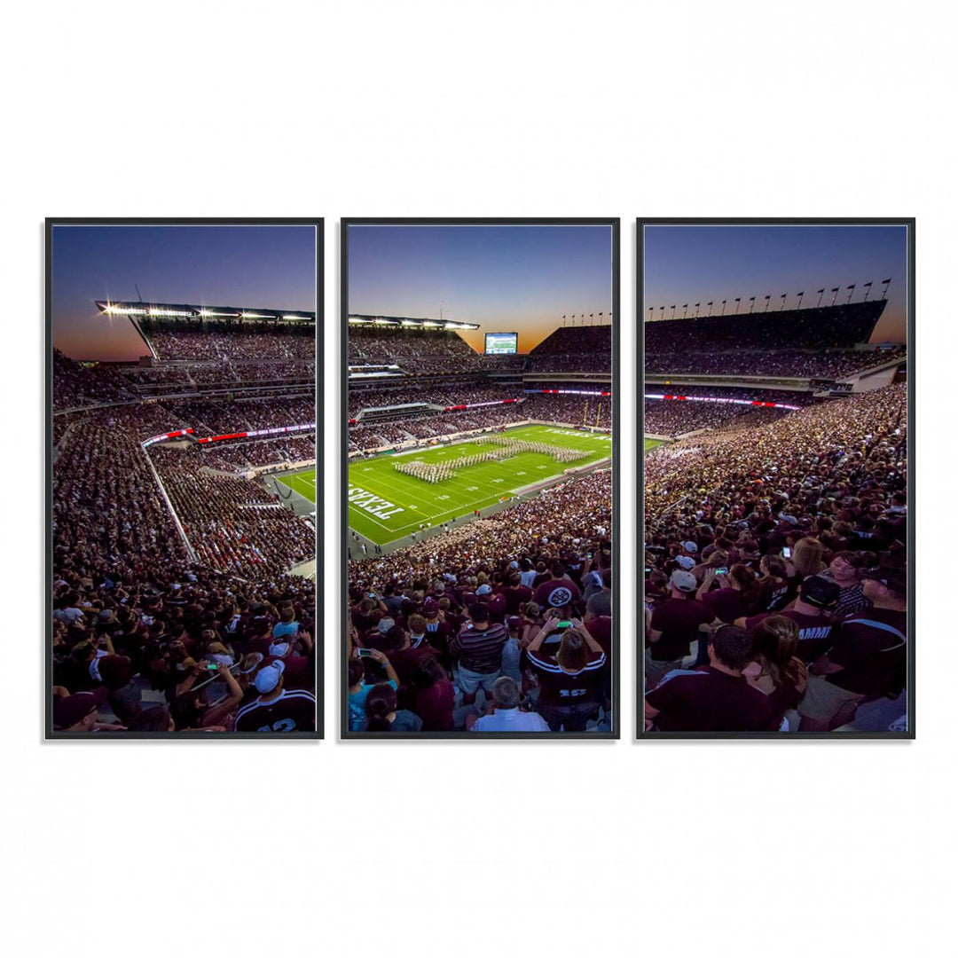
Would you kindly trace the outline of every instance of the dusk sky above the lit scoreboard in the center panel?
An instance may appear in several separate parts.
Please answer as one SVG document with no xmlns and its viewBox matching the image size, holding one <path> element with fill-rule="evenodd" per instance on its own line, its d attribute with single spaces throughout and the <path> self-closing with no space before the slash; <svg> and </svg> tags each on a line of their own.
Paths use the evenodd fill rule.
<svg viewBox="0 0 958 958">
<path fill-rule="evenodd" d="M 562 316 L 612 308 L 609 226 L 351 226 L 349 311 L 478 323 L 518 332 L 528 353 Z M 578 322 L 578 320 L 577 320 Z"/>
</svg>

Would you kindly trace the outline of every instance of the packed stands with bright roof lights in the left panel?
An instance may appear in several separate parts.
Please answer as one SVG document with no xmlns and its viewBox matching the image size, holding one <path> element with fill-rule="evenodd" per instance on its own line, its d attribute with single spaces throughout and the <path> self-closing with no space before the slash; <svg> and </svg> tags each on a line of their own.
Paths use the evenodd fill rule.
<svg viewBox="0 0 958 958">
<path fill-rule="evenodd" d="M 314 730 L 315 316 L 97 306 L 144 355 L 53 355 L 54 729 Z"/>
</svg>

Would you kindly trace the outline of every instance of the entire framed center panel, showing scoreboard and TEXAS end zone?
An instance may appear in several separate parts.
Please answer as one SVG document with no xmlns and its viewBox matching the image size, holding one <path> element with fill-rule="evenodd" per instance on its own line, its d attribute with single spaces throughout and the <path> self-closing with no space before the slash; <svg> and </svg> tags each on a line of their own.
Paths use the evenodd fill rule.
<svg viewBox="0 0 958 958">
<path fill-rule="evenodd" d="M 618 220 L 342 250 L 343 735 L 616 735 Z"/>
</svg>

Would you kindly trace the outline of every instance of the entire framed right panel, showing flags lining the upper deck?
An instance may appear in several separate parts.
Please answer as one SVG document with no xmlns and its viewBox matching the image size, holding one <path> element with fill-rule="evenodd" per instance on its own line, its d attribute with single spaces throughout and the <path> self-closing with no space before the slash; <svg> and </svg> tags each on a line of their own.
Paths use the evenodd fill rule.
<svg viewBox="0 0 958 958">
<path fill-rule="evenodd" d="M 914 738 L 914 229 L 639 220 L 642 738 Z"/>
</svg>

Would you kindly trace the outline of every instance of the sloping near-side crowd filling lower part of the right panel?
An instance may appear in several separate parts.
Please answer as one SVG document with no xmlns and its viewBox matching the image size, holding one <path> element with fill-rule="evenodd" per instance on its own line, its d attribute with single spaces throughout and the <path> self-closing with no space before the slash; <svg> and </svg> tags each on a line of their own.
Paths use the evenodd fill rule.
<svg viewBox="0 0 958 958">
<path fill-rule="evenodd" d="M 647 728 L 873 729 L 900 698 L 906 405 L 896 383 L 646 456 Z"/>
</svg>

